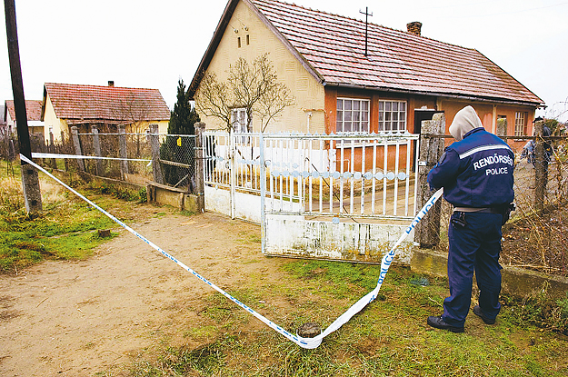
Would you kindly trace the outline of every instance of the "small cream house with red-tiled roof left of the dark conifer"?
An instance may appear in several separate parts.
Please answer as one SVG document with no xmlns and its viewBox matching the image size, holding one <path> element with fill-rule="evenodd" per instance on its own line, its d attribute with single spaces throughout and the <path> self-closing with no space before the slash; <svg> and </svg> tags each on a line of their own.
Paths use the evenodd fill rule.
<svg viewBox="0 0 568 377">
<path fill-rule="evenodd" d="M 127 133 L 144 133 L 158 124 L 166 133 L 170 110 L 158 89 L 45 83 L 42 120 L 55 140 L 69 138 L 70 127 L 79 133 L 91 132 L 96 125 L 101 133 L 116 133 L 124 124 Z M 45 135 L 47 138 L 48 135 Z"/>
</svg>

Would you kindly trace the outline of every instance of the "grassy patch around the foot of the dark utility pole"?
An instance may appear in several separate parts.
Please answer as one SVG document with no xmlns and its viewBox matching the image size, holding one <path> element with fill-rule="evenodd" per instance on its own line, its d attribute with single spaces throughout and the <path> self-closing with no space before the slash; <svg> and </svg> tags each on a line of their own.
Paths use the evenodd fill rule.
<svg viewBox="0 0 568 377">
<path fill-rule="evenodd" d="M 41 175 L 44 210 L 25 213 L 20 164 L 12 166 L 0 164 L 0 273 L 14 273 L 45 259 L 85 259 L 108 239 L 99 237 L 97 230 L 115 228 L 113 221 Z"/>
</svg>

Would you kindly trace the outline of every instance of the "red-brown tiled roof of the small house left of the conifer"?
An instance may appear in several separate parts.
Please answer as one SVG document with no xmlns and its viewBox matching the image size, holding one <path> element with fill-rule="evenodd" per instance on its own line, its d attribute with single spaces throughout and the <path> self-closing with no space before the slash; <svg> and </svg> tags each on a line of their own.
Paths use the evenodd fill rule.
<svg viewBox="0 0 568 377">
<path fill-rule="evenodd" d="M 55 115 L 70 124 L 170 119 L 170 110 L 158 89 L 45 83 L 45 94 Z"/>
</svg>

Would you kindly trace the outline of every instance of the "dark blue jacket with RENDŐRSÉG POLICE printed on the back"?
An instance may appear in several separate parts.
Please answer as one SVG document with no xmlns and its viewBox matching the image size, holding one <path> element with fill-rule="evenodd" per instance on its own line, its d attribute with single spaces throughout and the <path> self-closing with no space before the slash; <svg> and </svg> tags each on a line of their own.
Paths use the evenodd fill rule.
<svg viewBox="0 0 568 377">
<path fill-rule="evenodd" d="M 433 189 L 456 207 L 496 207 L 513 202 L 514 154 L 509 145 L 483 127 L 448 146 L 428 173 Z"/>
</svg>

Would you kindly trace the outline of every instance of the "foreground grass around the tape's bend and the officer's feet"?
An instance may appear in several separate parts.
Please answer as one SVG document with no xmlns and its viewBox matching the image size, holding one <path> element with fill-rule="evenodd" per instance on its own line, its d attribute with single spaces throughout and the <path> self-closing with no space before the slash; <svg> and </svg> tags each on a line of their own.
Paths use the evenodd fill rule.
<svg viewBox="0 0 568 377">
<path fill-rule="evenodd" d="M 284 294 L 296 309 L 276 309 L 269 318 L 290 332 L 308 321 L 328 326 L 374 288 L 380 270 L 375 265 L 303 260 L 284 263 L 283 268 L 289 279 L 274 286 L 254 281 L 234 295 L 265 313 L 271 305 L 259 302 Z M 442 313 L 447 290 L 445 279 L 394 266 L 377 300 L 315 350 L 301 349 L 267 327 L 251 330 L 251 323 L 237 318 L 239 313 L 250 315 L 215 293 L 206 300 L 201 327 L 186 332 L 190 343 L 197 340 L 199 345 L 170 346 L 148 359 L 139 358 L 131 374 L 560 377 L 568 373 L 568 338 L 513 314 L 523 303 L 505 303 L 493 326 L 471 314 L 465 333 L 427 326 L 427 315 Z M 560 302 L 562 311 L 568 301 Z"/>
</svg>

